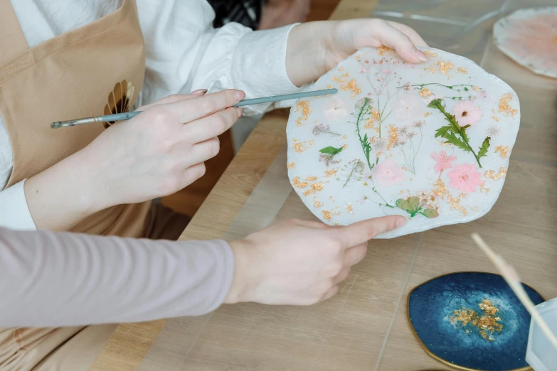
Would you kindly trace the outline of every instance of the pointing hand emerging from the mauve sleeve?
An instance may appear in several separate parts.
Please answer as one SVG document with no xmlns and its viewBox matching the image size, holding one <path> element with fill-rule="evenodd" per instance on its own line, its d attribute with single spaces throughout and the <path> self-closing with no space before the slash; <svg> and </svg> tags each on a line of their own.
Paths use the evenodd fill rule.
<svg viewBox="0 0 557 371">
<path fill-rule="evenodd" d="M 235 271 L 225 303 L 311 305 L 329 299 L 366 256 L 368 240 L 404 224 L 400 216 L 346 227 L 288 220 L 232 241 Z"/>
</svg>

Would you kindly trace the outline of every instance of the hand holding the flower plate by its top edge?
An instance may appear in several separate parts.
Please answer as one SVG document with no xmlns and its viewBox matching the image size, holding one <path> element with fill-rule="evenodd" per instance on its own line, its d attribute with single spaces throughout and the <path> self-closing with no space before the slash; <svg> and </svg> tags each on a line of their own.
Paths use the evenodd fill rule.
<svg viewBox="0 0 557 371">
<path fill-rule="evenodd" d="M 428 44 L 412 28 L 377 18 L 303 23 L 290 31 L 286 68 L 292 83 L 317 80 L 364 46 L 386 46 L 408 63 L 428 58 L 416 46 Z"/>
</svg>

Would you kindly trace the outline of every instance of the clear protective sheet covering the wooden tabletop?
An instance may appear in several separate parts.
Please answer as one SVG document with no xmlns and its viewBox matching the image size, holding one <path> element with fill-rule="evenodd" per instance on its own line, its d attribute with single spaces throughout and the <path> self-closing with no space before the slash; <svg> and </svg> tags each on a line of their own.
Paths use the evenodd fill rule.
<svg viewBox="0 0 557 371">
<path fill-rule="evenodd" d="M 534 75 L 492 43 L 492 26 L 521 7 L 555 0 L 381 0 L 373 17 L 408 24 L 432 47 L 464 55 L 516 91 L 521 129 L 497 204 L 465 225 L 378 240 L 317 306 L 222 306 L 166 322 L 138 370 L 446 370 L 423 350 L 406 316 L 410 289 L 452 271 L 495 271 L 475 247 L 479 232 L 521 279 L 557 296 L 557 80 Z M 366 16 L 366 15 L 362 15 Z M 225 239 L 277 220 L 315 220 L 287 178 L 280 151 Z"/>
</svg>

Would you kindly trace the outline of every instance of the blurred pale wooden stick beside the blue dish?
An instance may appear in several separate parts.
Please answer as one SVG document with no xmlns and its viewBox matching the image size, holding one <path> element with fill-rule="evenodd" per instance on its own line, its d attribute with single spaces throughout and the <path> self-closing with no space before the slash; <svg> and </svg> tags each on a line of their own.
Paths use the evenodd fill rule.
<svg viewBox="0 0 557 371">
<path fill-rule="evenodd" d="M 482 237 L 479 237 L 477 233 L 472 233 L 472 240 L 476 242 L 479 248 L 487 254 L 487 257 L 489 257 L 495 267 L 499 269 L 506 283 L 511 286 L 514 294 L 516 294 L 522 305 L 524 305 L 526 310 L 529 311 L 534 321 L 538 324 L 543 333 L 557 350 L 557 338 L 555 337 L 555 334 L 551 332 L 549 326 L 547 326 L 546 321 L 543 321 L 543 317 L 536 310 L 536 306 L 531 301 L 528 294 L 526 294 L 526 291 L 524 291 L 524 287 L 522 287 L 519 274 L 517 274 L 514 268 L 510 264 L 505 262 L 502 257 L 495 254 L 495 252 L 491 248 L 489 248 L 489 246 L 487 246 L 484 240 L 482 240 Z"/>
</svg>

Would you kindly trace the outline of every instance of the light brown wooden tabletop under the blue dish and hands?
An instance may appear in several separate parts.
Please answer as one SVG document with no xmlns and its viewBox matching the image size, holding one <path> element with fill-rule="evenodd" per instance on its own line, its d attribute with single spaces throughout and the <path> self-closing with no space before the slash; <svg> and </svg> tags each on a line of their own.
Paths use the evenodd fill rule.
<svg viewBox="0 0 557 371">
<path fill-rule="evenodd" d="M 331 18 L 371 14 L 374 5 L 344 0 Z M 440 274 L 495 271 L 472 244 L 474 231 L 514 264 L 525 283 L 556 297 L 557 82 L 520 68 L 493 45 L 488 54 L 483 67 L 516 90 L 522 114 L 506 185 L 488 215 L 374 241 L 339 294 L 317 306 L 243 303 L 198 318 L 120 325 L 92 370 L 135 370 L 140 363 L 139 370 L 446 370 L 411 333 L 406 296 Z M 273 176 L 281 179 L 273 171 L 277 163 L 285 168 L 286 121 L 286 111 L 262 119 L 181 240 L 240 237 L 249 230 L 245 222 L 235 223 L 250 219 L 246 205 L 265 192 L 265 177 L 269 184 Z M 314 219 L 295 193 L 289 191 L 284 201 L 273 220 Z"/>
</svg>

